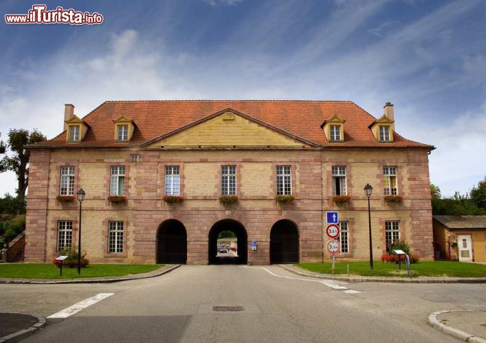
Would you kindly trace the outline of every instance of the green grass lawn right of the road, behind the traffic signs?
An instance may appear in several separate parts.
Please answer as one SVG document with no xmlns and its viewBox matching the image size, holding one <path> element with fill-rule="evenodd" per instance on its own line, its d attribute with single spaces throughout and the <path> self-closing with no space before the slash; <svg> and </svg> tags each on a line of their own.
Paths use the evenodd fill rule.
<svg viewBox="0 0 486 343">
<path fill-rule="evenodd" d="M 349 274 L 363 276 L 401 276 L 406 277 L 406 265 L 401 264 L 401 270 L 395 263 L 373 262 L 370 270 L 369 262 L 335 263 L 334 274 Z M 311 272 L 332 274 L 332 263 L 298 263 L 298 267 Z M 410 265 L 413 276 L 456 276 L 456 277 L 486 277 L 486 265 L 475 263 L 461 263 L 457 261 L 420 261 Z"/>
</svg>

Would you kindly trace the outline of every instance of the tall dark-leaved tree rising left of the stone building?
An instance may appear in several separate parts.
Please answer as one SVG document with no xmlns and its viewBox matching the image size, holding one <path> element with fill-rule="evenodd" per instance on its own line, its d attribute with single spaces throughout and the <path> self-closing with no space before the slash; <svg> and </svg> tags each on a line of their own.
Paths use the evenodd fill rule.
<svg viewBox="0 0 486 343">
<path fill-rule="evenodd" d="M 34 129 L 32 132 L 24 129 L 10 129 L 8 132 L 8 143 L 0 146 L 0 154 L 5 154 L 0 161 L 0 172 L 13 171 L 17 176 L 18 188 L 17 197 L 25 198 L 25 191 L 29 184 L 29 159 L 30 151 L 25 145 L 45 141 L 45 136 Z M 12 152 L 8 156 L 7 152 Z"/>
</svg>

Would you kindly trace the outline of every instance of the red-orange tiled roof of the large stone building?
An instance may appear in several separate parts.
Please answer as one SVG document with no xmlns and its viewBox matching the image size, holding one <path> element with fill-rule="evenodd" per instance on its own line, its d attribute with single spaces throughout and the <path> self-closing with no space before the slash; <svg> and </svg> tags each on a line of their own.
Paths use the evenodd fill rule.
<svg viewBox="0 0 486 343">
<path fill-rule="evenodd" d="M 89 130 L 81 143 L 67 143 L 65 134 L 37 143 L 35 147 L 124 147 L 140 145 L 193 121 L 233 108 L 275 126 L 291 135 L 323 147 L 423 147 L 432 145 L 409 141 L 395 132 L 393 143 L 379 143 L 368 126 L 375 117 L 353 102 L 283 100 L 181 100 L 104 102 L 82 118 Z M 115 143 L 113 119 L 133 119 L 135 132 L 129 143 Z M 325 119 L 338 115 L 344 123 L 344 142 L 330 143 L 320 127 Z M 62 115 L 59 115 L 62 120 Z"/>
</svg>

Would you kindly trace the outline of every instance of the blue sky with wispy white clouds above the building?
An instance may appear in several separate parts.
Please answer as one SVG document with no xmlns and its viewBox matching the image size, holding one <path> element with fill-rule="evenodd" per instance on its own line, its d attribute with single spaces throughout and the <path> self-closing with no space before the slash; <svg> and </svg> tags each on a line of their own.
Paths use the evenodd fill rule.
<svg viewBox="0 0 486 343">
<path fill-rule="evenodd" d="M 41 1 L 1 1 L 3 14 Z M 486 2 L 47 1 L 102 25 L 0 24 L 0 132 L 62 131 L 114 99 L 352 100 L 437 147 L 445 196 L 486 174 Z M 0 174 L 0 194 L 13 192 Z"/>
</svg>

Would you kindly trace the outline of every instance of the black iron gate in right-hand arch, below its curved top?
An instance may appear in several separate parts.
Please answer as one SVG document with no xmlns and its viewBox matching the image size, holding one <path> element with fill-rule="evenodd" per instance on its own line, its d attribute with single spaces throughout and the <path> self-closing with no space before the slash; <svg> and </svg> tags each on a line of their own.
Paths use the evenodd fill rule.
<svg viewBox="0 0 486 343">
<path fill-rule="evenodd" d="M 298 235 L 270 235 L 270 263 L 285 264 L 299 262 Z"/>
</svg>

